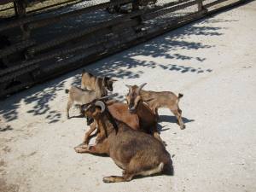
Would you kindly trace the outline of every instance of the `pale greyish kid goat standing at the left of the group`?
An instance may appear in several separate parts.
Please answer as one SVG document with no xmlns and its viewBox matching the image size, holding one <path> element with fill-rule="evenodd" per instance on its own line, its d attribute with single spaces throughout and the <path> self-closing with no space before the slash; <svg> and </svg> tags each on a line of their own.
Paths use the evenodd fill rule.
<svg viewBox="0 0 256 192">
<path fill-rule="evenodd" d="M 99 79 L 96 79 L 95 86 L 95 90 L 83 90 L 76 86 L 72 86 L 70 90 L 66 90 L 66 93 L 69 93 L 67 101 L 67 119 L 69 119 L 69 109 L 73 106 L 74 102 L 83 105 L 105 95 L 105 88 L 103 88 L 103 84 Z"/>
</svg>

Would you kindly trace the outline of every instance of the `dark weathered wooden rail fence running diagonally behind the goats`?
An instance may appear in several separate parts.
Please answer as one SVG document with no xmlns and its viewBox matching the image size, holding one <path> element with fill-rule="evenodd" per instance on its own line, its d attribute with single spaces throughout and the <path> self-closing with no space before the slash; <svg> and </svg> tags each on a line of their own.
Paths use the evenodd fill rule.
<svg viewBox="0 0 256 192">
<path fill-rule="evenodd" d="M 2 0 L 0 96 L 245 0 Z M 109 11 L 110 8 L 118 11 Z M 132 8 L 132 9 L 131 9 Z"/>
</svg>

